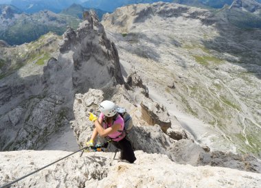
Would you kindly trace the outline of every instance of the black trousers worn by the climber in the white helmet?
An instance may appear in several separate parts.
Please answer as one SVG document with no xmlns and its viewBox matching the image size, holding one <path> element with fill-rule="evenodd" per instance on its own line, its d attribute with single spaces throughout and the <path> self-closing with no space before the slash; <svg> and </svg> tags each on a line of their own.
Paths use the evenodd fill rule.
<svg viewBox="0 0 261 188">
<path fill-rule="evenodd" d="M 130 163 L 134 163 L 136 157 L 131 145 L 131 141 L 124 137 L 124 139 L 121 141 L 113 141 L 112 143 L 116 148 L 121 150 L 121 159 L 124 159 Z"/>
</svg>

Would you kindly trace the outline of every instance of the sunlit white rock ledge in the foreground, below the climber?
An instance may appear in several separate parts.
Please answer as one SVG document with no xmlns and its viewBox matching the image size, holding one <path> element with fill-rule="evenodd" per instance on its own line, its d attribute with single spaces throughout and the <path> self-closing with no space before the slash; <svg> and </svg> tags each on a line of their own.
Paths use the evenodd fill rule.
<svg viewBox="0 0 261 188">
<path fill-rule="evenodd" d="M 0 186 L 25 176 L 71 152 L 0 153 Z M 261 174 L 224 167 L 179 165 L 163 154 L 136 151 L 134 164 L 114 153 L 80 152 L 55 163 L 12 187 L 259 187 Z"/>
</svg>

